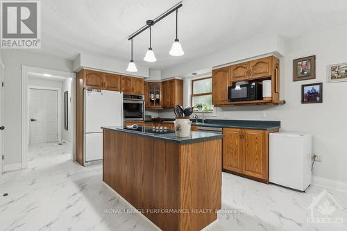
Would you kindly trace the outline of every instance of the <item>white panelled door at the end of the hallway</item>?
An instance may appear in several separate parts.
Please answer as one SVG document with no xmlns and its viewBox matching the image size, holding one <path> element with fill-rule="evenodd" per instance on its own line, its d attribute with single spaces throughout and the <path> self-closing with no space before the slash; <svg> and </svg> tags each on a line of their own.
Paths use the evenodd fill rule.
<svg viewBox="0 0 347 231">
<path fill-rule="evenodd" d="M 58 141 L 58 91 L 30 89 L 30 143 Z"/>
</svg>

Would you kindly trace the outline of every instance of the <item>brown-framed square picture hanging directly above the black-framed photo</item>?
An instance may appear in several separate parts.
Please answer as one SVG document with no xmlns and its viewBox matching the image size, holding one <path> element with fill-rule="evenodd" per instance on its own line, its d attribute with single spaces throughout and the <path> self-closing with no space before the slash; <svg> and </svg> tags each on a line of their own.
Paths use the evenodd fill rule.
<svg viewBox="0 0 347 231">
<path fill-rule="evenodd" d="M 316 55 L 293 60 L 293 80 L 316 78 Z"/>
</svg>

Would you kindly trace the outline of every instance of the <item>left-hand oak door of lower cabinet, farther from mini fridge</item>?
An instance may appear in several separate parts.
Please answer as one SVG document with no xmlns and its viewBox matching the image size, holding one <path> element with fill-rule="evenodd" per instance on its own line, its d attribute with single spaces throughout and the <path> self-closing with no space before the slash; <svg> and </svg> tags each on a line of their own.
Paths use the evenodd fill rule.
<svg viewBox="0 0 347 231">
<path fill-rule="evenodd" d="M 242 173 L 242 129 L 223 128 L 223 169 Z"/>
</svg>

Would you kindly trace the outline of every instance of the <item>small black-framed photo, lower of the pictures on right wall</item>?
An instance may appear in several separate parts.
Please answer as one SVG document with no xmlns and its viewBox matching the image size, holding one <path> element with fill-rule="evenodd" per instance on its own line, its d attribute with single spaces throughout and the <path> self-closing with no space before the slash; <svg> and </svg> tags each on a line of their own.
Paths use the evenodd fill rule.
<svg viewBox="0 0 347 231">
<path fill-rule="evenodd" d="M 322 103 L 323 83 L 301 85 L 301 103 Z"/>
</svg>

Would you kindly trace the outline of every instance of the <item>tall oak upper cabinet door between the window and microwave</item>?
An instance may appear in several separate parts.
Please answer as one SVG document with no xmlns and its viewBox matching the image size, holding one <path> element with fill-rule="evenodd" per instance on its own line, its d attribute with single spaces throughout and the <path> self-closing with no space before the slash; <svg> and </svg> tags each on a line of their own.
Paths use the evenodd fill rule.
<svg viewBox="0 0 347 231">
<path fill-rule="evenodd" d="M 230 85 L 229 67 L 212 70 L 212 103 L 228 103 L 228 86 Z"/>
</svg>

